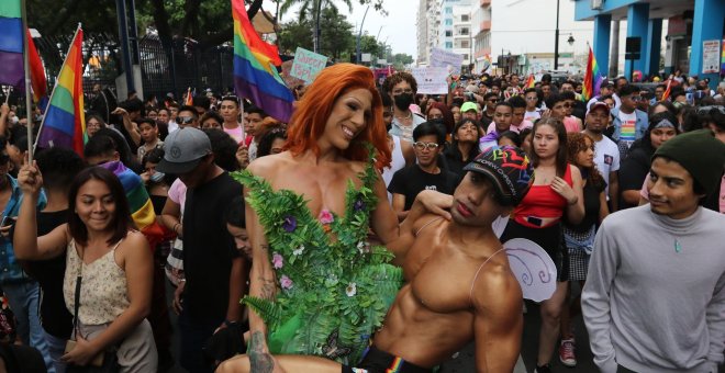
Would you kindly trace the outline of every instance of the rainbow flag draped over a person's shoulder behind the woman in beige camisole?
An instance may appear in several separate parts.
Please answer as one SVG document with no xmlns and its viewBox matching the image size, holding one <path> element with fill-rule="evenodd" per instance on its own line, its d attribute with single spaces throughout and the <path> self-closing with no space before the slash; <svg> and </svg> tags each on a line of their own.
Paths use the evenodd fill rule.
<svg viewBox="0 0 725 373">
<path fill-rule="evenodd" d="M 156 222 L 156 213 L 150 202 L 146 187 L 134 171 L 127 169 L 121 161 L 112 161 L 100 165 L 100 167 L 112 171 L 123 185 L 129 200 L 129 210 L 136 228 L 146 236 L 152 250 L 164 240 L 164 229 Z"/>
</svg>

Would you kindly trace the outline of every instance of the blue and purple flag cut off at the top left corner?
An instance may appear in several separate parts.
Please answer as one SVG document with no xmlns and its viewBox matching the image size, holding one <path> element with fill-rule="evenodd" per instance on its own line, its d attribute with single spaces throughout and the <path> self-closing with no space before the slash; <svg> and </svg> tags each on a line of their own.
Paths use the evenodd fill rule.
<svg viewBox="0 0 725 373">
<path fill-rule="evenodd" d="M 0 84 L 25 92 L 20 0 L 0 1 Z"/>
</svg>

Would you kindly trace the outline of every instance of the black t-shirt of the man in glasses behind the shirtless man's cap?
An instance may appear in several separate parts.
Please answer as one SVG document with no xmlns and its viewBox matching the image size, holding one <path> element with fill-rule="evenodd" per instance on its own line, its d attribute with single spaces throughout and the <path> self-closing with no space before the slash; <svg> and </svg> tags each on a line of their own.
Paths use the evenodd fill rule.
<svg viewBox="0 0 725 373">
<path fill-rule="evenodd" d="M 411 210 L 413 201 L 417 193 L 424 190 L 434 190 L 440 193 L 453 194 L 458 184 L 458 177 L 445 169 L 438 173 L 427 173 L 417 165 L 412 165 L 398 170 L 390 184 L 388 192 L 393 194 L 403 194 L 405 196 L 405 211 Z"/>
</svg>

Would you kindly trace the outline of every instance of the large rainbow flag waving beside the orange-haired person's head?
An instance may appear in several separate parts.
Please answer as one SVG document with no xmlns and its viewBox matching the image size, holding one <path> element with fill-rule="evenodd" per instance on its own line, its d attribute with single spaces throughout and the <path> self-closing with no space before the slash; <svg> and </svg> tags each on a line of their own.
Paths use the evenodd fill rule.
<svg viewBox="0 0 725 373">
<path fill-rule="evenodd" d="M 275 45 L 259 37 L 244 8 L 232 0 L 234 18 L 234 90 L 250 99 L 271 117 L 289 123 L 294 98 L 277 72 L 282 60 Z"/>
</svg>

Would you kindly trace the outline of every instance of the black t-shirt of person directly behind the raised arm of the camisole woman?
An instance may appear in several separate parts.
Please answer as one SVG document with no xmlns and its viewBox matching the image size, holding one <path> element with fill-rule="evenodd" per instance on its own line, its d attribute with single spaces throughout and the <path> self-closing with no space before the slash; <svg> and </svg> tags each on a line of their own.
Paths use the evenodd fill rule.
<svg viewBox="0 0 725 373">
<path fill-rule="evenodd" d="M 37 235 L 51 233 L 62 224 L 68 223 L 68 211 L 37 214 Z M 64 251 L 65 252 L 65 251 Z M 41 284 L 41 324 L 49 335 L 70 338 L 72 331 L 72 315 L 66 308 L 63 297 L 63 276 L 66 272 L 66 256 L 59 255 L 48 260 L 29 260 L 23 268 Z"/>
</svg>

